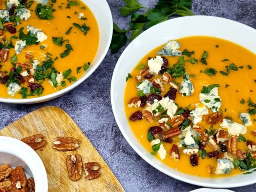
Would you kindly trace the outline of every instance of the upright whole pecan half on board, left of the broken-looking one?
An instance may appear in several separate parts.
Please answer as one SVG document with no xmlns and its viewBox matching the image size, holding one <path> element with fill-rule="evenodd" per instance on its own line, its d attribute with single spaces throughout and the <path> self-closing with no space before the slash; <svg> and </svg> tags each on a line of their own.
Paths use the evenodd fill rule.
<svg viewBox="0 0 256 192">
<path fill-rule="evenodd" d="M 68 155 L 66 158 L 66 165 L 69 179 L 72 181 L 78 181 L 78 179 L 82 177 L 83 172 L 83 161 L 81 155 L 78 153 L 75 155 Z"/>
</svg>

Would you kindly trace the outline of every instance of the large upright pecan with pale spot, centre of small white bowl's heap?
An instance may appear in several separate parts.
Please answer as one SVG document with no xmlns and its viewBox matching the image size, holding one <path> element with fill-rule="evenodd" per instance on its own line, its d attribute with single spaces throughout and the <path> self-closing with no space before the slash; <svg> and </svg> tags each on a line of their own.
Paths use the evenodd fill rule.
<svg viewBox="0 0 256 192">
<path fill-rule="evenodd" d="M 27 186 L 27 177 L 22 167 L 17 166 L 11 172 L 11 190 L 17 191 Z M 23 190 L 24 191 L 24 190 Z"/>
</svg>

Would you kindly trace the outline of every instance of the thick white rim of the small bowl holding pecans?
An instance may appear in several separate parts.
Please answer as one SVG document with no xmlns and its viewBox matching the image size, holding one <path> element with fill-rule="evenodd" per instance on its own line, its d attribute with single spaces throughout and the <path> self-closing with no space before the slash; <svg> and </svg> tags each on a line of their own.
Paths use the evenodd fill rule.
<svg viewBox="0 0 256 192">
<path fill-rule="evenodd" d="M 0 152 L 8 153 L 26 163 L 30 169 L 38 192 L 48 191 L 48 179 L 43 161 L 30 146 L 7 136 L 0 136 Z M 8 162 L 6 162 L 8 164 Z"/>
</svg>

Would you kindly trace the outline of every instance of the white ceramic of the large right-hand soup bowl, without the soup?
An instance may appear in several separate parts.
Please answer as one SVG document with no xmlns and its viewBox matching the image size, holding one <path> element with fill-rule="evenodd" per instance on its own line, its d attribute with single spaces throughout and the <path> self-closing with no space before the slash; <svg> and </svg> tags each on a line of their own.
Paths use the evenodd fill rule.
<svg viewBox="0 0 256 192">
<path fill-rule="evenodd" d="M 241 174 L 218 179 L 202 178 L 179 172 L 178 170 L 163 164 L 153 155 L 148 153 L 148 151 L 139 143 L 128 124 L 124 111 L 124 90 L 128 73 L 131 72 L 141 58 L 148 54 L 152 49 L 161 44 L 165 44 L 171 39 L 195 35 L 226 39 L 235 42 L 256 54 L 256 30 L 239 22 L 225 18 L 210 16 L 180 17 L 167 20 L 149 28 L 127 46 L 117 61 L 117 65 L 113 72 L 111 81 L 111 105 L 117 125 L 130 146 L 132 146 L 145 161 L 175 179 L 193 185 L 213 188 L 237 187 L 256 183 L 256 172 L 249 175 Z"/>
</svg>

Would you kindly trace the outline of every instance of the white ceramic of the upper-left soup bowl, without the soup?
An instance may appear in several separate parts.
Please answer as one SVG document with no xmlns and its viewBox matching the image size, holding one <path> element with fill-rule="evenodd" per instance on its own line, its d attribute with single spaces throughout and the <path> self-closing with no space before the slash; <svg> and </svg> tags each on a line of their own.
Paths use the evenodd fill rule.
<svg viewBox="0 0 256 192">
<path fill-rule="evenodd" d="M 106 56 L 113 33 L 113 19 L 111 15 L 110 8 L 108 6 L 108 3 L 106 0 L 82 0 L 85 5 L 87 5 L 91 11 L 93 12 L 93 15 L 95 16 L 99 33 L 100 33 L 100 41 L 98 50 L 96 53 L 96 56 L 91 63 L 91 66 L 89 69 L 85 72 L 85 74 L 79 78 L 77 81 L 75 81 L 72 85 L 68 86 L 65 89 L 59 90 L 58 92 L 41 96 L 37 98 L 26 98 L 26 99 L 13 99 L 13 98 L 0 98 L 0 102 L 5 103 L 20 103 L 20 104 L 28 104 L 28 103 L 39 103 L 39 102 L 45 102 L 48 100 L 52 100 L 54 98 L 57 98 L 70 90 L 74 89 L 80 83 L 82 83 L 85 79 L 87 79 L 100 65 L 104 57 Z"/>
</svg>

